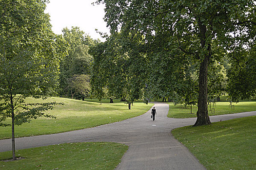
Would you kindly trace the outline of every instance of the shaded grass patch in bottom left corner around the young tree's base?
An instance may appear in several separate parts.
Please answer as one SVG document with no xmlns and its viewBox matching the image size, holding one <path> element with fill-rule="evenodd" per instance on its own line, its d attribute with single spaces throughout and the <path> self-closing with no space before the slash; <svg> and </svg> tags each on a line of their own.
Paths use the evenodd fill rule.
<svg viewBox="0 0 256 170">
<path fill-rule="evenodd" d="M 1 170 L 114 170 L 128 146 L 109 142 L 66 143 L 18 150 L 25 159 L 0 161 Z M 0 153 L 0 160 L 11 152 Z"/>
</svg>

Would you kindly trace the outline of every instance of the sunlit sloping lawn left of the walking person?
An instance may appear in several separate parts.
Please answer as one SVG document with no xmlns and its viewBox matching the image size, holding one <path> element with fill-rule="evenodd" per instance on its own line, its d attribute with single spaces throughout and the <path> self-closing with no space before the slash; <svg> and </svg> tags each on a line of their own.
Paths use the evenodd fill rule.
<svg viewBox="0 0 256 170">
<path fill-rule="evenodd" d="M 67 98 L 52 97 L 47 100 L 28 99 L 27 102 L 63 102 L 47 113 L 57 119 L 39 118 L 30 123 L 15 126 L 15 136 L 36 136 L 68 132 L 133 118 L 147 112 L 153 103 L 134 102 L 132 109 L 124 102 L 86 102 Z M 8 120 L 11 121 L 10 119 Z M 11 138 L 11 127 L 0 127 L 0 139 Z"/>
</svg>

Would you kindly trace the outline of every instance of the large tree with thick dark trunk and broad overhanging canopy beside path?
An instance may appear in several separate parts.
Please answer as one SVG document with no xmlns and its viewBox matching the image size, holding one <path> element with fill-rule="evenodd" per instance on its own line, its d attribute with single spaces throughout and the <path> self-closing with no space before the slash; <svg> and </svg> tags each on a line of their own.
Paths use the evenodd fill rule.
<svg viewBox="0 0 256 170">
<path fill-rule="evenodd" d="M 174 56 L 198 64 L 197 125 L 210 124 L 207 110 L 208 67 L 220 49 L 251 48 L 255 39 L 255 1 L 251 0 L 98 0 L 114 34 L 141 34 L 151 49 L 167 39 Z M 235 35 L 235 36 L 234 36 Z M 161 49 L 161 48 L 160 48 Z M 163 49 L 161 50 L 163 51 Z M 176 51 L 177 53 L 174 53 Z M 147 52 L 150 55 L 150 51 Z"/>
</svg>

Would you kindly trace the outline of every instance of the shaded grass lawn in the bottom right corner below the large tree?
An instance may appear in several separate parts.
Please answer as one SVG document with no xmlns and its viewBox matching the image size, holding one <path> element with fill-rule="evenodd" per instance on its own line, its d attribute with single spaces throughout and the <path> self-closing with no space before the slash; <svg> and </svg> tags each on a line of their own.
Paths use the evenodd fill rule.
<svg viewBox="0 0 256 170">
<path fill-rule="evenodd" d="M 256 170 L 256 116 L 182 127 L 173 136 L 207 170 Z"/>
</svg>

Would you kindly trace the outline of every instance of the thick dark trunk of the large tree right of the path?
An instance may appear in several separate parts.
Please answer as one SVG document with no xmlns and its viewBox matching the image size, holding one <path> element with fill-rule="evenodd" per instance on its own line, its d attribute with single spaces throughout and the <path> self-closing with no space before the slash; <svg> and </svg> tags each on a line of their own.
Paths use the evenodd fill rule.
<svg viewBox="0 0 256 170">
<path fill-rule="evenodd" d="M 194 124 L 194 126 L 211 124 L 210 118 L 208 116 L 208 105 L 207 105 L 208 62 L 209 62 L 209 56 L 205 56 L 203 62 L 200 65 L 197 121 Z"/>
</svg>

